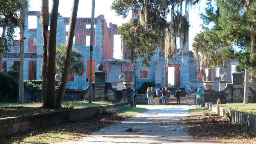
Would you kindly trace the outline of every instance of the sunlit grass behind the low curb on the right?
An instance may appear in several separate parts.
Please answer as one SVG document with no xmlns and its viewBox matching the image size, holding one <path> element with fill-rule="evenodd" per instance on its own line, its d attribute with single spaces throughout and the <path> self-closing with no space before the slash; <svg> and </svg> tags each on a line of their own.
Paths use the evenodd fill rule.
<svg viewBox="0 0 256 144">
<path fill-rule="evenodd" d="M 243 103 L 233 103 L 233 104 L 219 104 L 221 107 L 227 107 L 229 109 L 238 110 L 241 112 L 245 112 L 248 114 L 256 115 L 256 103 L 249 103 L 249 104 L 243 104 Z"/>
</svg>

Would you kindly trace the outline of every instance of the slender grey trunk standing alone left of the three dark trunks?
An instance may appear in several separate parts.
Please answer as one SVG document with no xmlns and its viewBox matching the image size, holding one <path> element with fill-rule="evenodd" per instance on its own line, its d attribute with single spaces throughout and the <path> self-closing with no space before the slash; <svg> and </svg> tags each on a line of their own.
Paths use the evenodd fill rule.
<svg viewBox="0 0 256 144">
<path fill-rule="evenodd" d="M 22 8 L 20 10 L 20 83 L 19 83 L 19 103 L 23 103 L 23 81 L 24 81 L 24 36 L 25 16 L 26 16 L 26 0 L 22 0 Z"/>
</svg>

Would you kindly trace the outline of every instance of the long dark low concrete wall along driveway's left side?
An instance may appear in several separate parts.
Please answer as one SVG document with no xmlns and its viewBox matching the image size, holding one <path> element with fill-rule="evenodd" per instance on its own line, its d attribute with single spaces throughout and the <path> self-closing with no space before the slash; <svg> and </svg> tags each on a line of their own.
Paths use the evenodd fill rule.
<svg viewBox="0 0 256 144">
<path fill-rule="evenodd" d="M 102 114 L 103 111 L 117 111 L 130 107 L 130 103 L 117 103 L 102 105 L 99 107 L 90 107 L 83 109 L 63 110 L 56 112 L 46 112 L 36 115 L 6 117 L 0 118 L 0 137 L 11 135 L 16 132 L 26 131 L 45 127 L 50 124 L 58 124 L 63 121 L 74 121 L 96 114 Z"/>
</svg>

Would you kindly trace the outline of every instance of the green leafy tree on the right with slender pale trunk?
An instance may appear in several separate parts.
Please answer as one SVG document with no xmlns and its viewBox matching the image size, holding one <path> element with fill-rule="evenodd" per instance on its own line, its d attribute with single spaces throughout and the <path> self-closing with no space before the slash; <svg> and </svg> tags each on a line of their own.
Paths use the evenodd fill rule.
<svg viewBox="0 0 256 144">
<path fill-rule="evenodd" d="M 248 70 L 256 66 L 256 1 L 253 0 L 216 0 L 217 9 L 210 3 L 206 14 L 201 14 L 205 29 L 201 40 L 206 41 L 205 46 L 200 47 L 200 39 L 195 40 L 194 49 L 203 56 L 207 54 L 206 62 L 210 59 L 216 65 L 224 66 L 225 60 L 235 58 L 245 71 L 244 104 L 248 104 Z M 208 25 L 212 23 L 213 27 Z M 198 47 L 196 47 L 198 46 Z M 238 50 L 236 50 L 236 49 Z M 214 55 L 220 55 L 214 57 Z M 204 60 L 202 62 L 205 62 Z"/>
</svg>

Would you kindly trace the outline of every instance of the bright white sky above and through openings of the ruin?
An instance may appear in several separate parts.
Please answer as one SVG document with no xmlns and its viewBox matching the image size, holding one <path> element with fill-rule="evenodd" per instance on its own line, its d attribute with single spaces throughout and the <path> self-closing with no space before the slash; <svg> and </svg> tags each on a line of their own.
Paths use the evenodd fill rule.
<svg viewBox="0 0 256 144">
<path fill-rule="evenodd" d="M 130 20 L 132 13 L 129 12 L 126 19 L 123 19 L 121 16 L 116 16 L 116 13 L 110 9 L 112 2 L 114 0 L 95 0 L 95 17 L 103 14 L 105 16 L 107 25 L 109 22 L 121 26 L 122 23 L 126 23 Z M 190 30 L 189 30 L 189 50 L 192 50 L 191 44 L 193 43 L 193 38 L 196 33 L 199 33 L 201 27 L 199 26 L 202 23 L 202 20 L 199 18 L 198 13 L 203 12 L 205 7 L 206 0 L 200 0 L 200 6 L 194 6 L 190 9 L 189 12 L 189 21 L 190 21 Z M 29 11 L 41 11 L 41 0 L 29 0 L 30 8 Z M 63 17 L 70 17 L 72 11 L 73 0 L 60 0 L 59 1 L 59 13 Z M 51 11 L 52 0 L 49 0 L 49 12 Z M 80 0 L 78 7 L 78 18 L 90 18 L 91 17 L 91 0 Z M 199 10 L 200 9 L 200 10 Z M 168 16 L 170 18 L 170 16 Z M 36 28 L 35 17 L 29 18 L 29 28 Z M 32 22 L 30 22 L 32 21 Z M 19 31 L 19 30 L 17 30 Z M 18 32 L 17 32 L 18 33 Z M 17 34 L 16 33 L 16 34 Z M 19 36 L 16 37 L 19 39 Z M 120 36 L 116 35 L 114 37 L 114 57 L 115 59 L 121 59 L 121 44 Z"/>
</svg>

